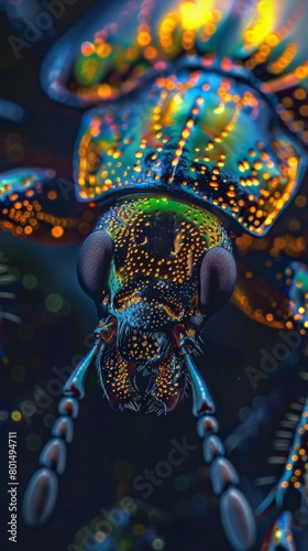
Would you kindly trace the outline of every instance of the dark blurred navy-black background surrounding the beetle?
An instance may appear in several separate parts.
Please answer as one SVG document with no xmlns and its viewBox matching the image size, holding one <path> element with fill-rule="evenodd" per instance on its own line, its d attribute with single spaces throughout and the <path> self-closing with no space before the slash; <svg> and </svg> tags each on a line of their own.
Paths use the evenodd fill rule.
<svg viewBox="0 0 308 551">
<path fill-rule="evenodd" d="M 31 48 L 23 50 L 20 60 L 8 42 L 16 31 L 12 30 L 4 12 L 0 12 L 0 97 L 16 101 L 26 109 L 24 122 L 9 123 L 0 119 L 1 170 L 51 166 L 61 170 L 72 181 L 73 147 L 82 111 L 54 104 L 43 95 L 38 84 L 40 64 L 56 36 L 82 17 L 91 3 L 78 0 L 74 6 L 67 6 L 63 17 L 55 21 L 54 29 L 43 33 Z M 28 3 L 29 19 L 37 6 L 40 9 L 40 2 Z M 19 32 L 22 35 L 23 29 Z M 2 301 L 1 307 L 21 318 L 21 323 L 1 322 L 0 316 L 1 338 L 9 358 L 9 364 L 1 366 L 1 549 L 13 545 L 8 543 L 6 533 L 7 451 L 8 432 L 16 431 L 20 485 L 15 548 L 64 551 L 75 542 L 79 545 L 77 549 L 100 551 L 184 551 L 189 548 L 194 551 L 228 551 L 230 547 L 221 528 L 218 500 L 210 491 L 202 462 L 190 395 L 166 418 L 120 414 L 103 400 L 95 372 L 88 379 L 86 399 L 80 402 L 75 437 L 68 449 L 66 472 L 59 478 L 59 496 L 52 520 L 40 530 L 23 525 L 23 489 L 37 466 L 40 449 L 48 440 L 59 398 L 55 396 L 42 406 L 38 413 L 22 417 L 16 422 L 11 413 L 20 411 L 24 401 L 34 400 L 35 385 L 46 390 L 51 379 L 58 379 L 54 367 L 63 369 L 76 360 L 76 355 L 87 352 L 85 339 L 96 326 L 96 312 L 77 282 L 78 246 L 47 247 L 4 234 L 1 234 L 0 242 L 3 251 L 0 263 L 8 263 L 15 278 L 11 283 L 2 283 L 0 291 L 3 288 L 16 295 L 14 301 Z M 271 476 L 277 480 L 282 472 L 282 466 L 270 464 L 267 458 L 279 455 L 273 449 L 273 441 L 280 420 L 294 411 L 290 403 L 307 393 L 307 383 L 299 372 L 305 370 L 308 348 L 302 339 L 301 352 L 290 354 L 254 389 L 245 368 L 260 368 L 261 349 L 271 353 L 280 342 L 277 332 L 257 325 L 233 306 L 227 306 L 208 322 L 204 341 L 204 353 L 197 358 L 197 364 L 215 398 L 223 439 L 229 437 L 227 442 L 230 443 L 230 434 L 233 434 L 234 441 L 238 428 L 240 440 L 238 437 L 231 460 L 237 465 L 245 495 L 256 507 L 271 488 L 271 485 L 260 485 L 258 478 Z M 183 465 L 174 467 L 170 476 L 154 488 L 150 498 L 143 499 L 142 491 L 134 488 L 133 479 L 144 469 L 154 469 L 160 461 L 166 460 L 173 439 L 182 442 L 185 436 L 197 450 Z M 82 534 L 94 531 L 90 526 L 88 532 L 80 532 L 82 527 L 89 526 L 102 509 L 105 517 L 114 507 L 119 510 L 119 499 L 128 495 L 134 499 L 135 514 L 121 526 L 118 523 L 119 529 L 113 529 L 112 539 L 106 540 L 105 544 L 82 544 Z M 260 549 L 272 520 L 273 515 L 270 515 L 258 523 L 256 549 Z M 305 527 L 296 538 L 298 549 L 307 549 Z"/>
</svg>

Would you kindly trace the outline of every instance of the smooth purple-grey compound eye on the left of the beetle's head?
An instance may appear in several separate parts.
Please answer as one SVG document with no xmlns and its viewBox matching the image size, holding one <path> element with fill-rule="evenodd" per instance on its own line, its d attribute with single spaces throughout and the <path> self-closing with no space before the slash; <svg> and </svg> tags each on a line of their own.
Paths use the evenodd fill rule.
<svg viewBox="0 0 308 551">
<path fill-rule="evenodd" d="M 99 299 L 106 288 L 113 252 L 111 237 L 100 229 L 84 241 L 78 256 L 77 276 L 84 291 L 92 299 Z"/>
</svg>

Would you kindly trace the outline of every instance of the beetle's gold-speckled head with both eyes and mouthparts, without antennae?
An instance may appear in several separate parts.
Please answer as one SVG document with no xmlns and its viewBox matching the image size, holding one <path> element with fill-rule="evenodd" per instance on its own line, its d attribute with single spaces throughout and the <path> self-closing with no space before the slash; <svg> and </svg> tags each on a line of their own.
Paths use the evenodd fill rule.
<svg viewBox="0 0 308 551">
<path fill-rule="evenodd" d="M 139 409 L 136 374 L 142 372 L 152 376 L 147 408 L 156 400 L 163 409 L 173 409 L 186 382 L 175 326 L 183 324 L 195 336 L 204 318 L 233 291 L 235 263 L 229 240 L 217 218 L 208 216 L 211 225 L 206 228 L 172 208 L 143 208 L 130 217 L 120 206 L 81 247 L 80 284 L 100 315 L 111 315 L 117 324 L 113 342 L 97 360 L 100 381 L 116 408 L 129 403 L 135 409 L 136 403 Z"/>
</svg>

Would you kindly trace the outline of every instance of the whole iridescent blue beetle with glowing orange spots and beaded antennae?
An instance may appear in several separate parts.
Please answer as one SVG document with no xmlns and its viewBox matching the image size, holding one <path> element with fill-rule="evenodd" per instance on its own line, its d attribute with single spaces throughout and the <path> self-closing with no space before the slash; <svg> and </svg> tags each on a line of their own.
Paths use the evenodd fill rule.
<svg viewBox="0 0 308 551">
<path fill-rule="evenodd" d="M 76 201 L 63 201 L 52 170 L 1 176 L 1 227 L 14 235 L 61 241 L 78 234 L 82 212 L 96 218 L 78 259 L 80 284 L 97 305 L 95 342 L 64 386 L 24 517 L 42 523 L 54 508 L 56 474 L 96 364 L 117 410 L 167 413 L 191 383 L 224 531 L 234 549 L 249 549 L 254 516 L 193 353 L 205 321 L 233 291 L 233 303 L 261 323 L 308 325 L 306 198 L 298 195 L 308 141 L 305 2 L 144 0 L 100 12 L 98 2 L 42 67 L 50 98 L 91 107 L 76 140 Z M 277 218 L 294 199 L 295 222 L 285 227 Z M 145 391 L 139 371 L 148 377 Z M 304 471 L 305 446 L 260 514 L 275 499 L 282 505 L 299 461 Z M 278 518 L 268 549 L 290 541 L 289 521 Z"/>
</svg>

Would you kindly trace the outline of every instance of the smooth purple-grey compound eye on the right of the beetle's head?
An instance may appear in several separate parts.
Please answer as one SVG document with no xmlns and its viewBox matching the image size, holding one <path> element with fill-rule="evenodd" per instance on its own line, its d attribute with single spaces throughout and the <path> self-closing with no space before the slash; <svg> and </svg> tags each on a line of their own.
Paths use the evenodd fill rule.
<svg viewBox="0 0 308 551">
<path fill-rule="evenodd" d="M 199 306 L 206 315 L 220 310 L 231 298 L 237 283 L 233 255 L 223 247 L 206 252 L 200 267 Z"/>
</svg>

